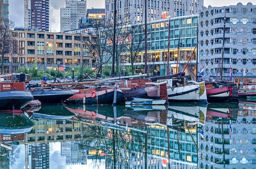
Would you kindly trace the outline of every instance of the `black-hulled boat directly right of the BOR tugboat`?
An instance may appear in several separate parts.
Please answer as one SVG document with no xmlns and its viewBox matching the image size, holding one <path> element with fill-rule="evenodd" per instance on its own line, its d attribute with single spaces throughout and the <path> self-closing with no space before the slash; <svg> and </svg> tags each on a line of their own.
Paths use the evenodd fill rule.
<svg viewBox="0 0 256 169">
<path fill-rule="evenodd" d="M 63 103 L 67 98 L 74 95 L 74 93 L 68 89 L 33 89 L 31 93 L 34 96 L 34 100 L 51 104 Z"/>
</svg>

